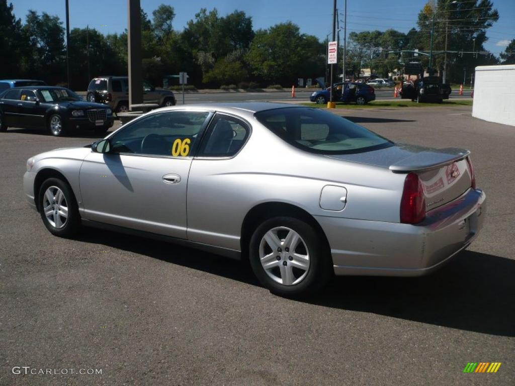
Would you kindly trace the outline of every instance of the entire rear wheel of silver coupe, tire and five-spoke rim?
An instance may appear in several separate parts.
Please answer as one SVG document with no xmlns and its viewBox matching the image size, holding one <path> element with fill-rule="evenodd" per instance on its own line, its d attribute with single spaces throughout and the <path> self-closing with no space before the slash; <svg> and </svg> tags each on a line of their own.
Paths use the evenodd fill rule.
<svg viewBox="0 0 515 386">
<path fill-rule="evenodd" d="M 250 265 L 261 284 L 282 296 L 313 293 L 328 282 L 328 248 L 313 227 L 293 217 L 274 217 L 254 231 Z"/>
</svg>

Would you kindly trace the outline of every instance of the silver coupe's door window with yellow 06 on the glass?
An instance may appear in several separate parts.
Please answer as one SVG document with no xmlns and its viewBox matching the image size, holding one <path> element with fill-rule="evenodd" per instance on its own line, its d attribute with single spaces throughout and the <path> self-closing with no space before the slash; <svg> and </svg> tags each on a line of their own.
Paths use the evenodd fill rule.
<svg viewBox="0 0 515 386">
<path fill-rule="evenodd" d="M 111 153 L 188 156 L 199 142 L 208 112 L 166 112 L 135 121 L 111 138 Z"/>
</svg>

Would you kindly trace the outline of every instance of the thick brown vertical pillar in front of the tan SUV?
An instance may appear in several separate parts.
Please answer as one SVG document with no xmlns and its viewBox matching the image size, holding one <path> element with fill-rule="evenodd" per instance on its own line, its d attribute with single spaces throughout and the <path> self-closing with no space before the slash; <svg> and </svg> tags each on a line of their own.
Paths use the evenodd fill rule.
<svg viewBox="0 0 515 386">
<path fill-rule="evenodd" d="M 127 15 L 129 110 L 132 110 L 132 104 L 143 103 L 140 0 L 127 0 Z"/>
</svg>

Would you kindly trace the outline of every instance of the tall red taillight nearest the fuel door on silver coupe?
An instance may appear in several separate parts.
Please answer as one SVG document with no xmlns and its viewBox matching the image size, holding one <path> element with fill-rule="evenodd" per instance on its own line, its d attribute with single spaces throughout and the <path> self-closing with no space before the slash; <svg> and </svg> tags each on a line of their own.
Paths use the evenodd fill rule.
<svg viewBox="0 0 515 386">
<path fill-rule="evenodd" d="M 415 173 L 409 173 L 404 180 L 401 199 L 401 222 L 417 224 L 425 218 L 424 187 Z"/>
</svg>

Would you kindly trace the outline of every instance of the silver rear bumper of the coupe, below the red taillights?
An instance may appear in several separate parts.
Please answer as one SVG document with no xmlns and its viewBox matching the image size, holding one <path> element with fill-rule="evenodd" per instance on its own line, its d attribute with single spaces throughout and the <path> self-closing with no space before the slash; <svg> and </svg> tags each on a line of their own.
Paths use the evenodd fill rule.
<svg viewBox="0 0 515 386">
<path fill-rule="evenodd" d="M 417 225 L 317 216 L 337 275 L 421 276 L 468 247 L 483 227 L 486 196 L 469 189 Z"/>
</svg>

